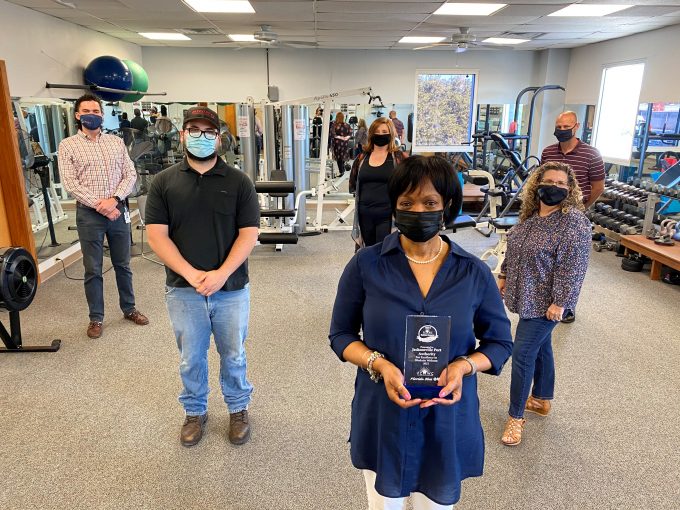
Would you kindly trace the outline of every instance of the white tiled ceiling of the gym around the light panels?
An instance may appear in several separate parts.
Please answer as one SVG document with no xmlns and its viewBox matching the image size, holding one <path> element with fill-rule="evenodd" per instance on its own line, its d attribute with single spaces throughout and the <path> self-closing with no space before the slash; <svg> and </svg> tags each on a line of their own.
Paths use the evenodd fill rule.
<svg viewBox="0 0 680 510">
<path fill-rule="evenodd" d="M 477 41 L 492 36 L 531 34 L 515 49 L 573 48 L 680 24 L 680 0 L 499 0 L 508 6 L 492 16 L 434 16 L 445 2 L 251 0 L 255 14 L 199 14 L 180 0 L 11 0 L 65 21 L 141 46 L 215 47 L 228 33 L 252 33 L 272 26 L 279 39 L 316 42 L 320 48 L 390 49 L 405 35 L 446 36 L 469 27 Z M 465 0 L 482 2 L 484 0 Z M 486 0 L 496 1 L 496 0 Z M 598 18 L 547 17 L 570 3 L 630 4 L 634 7 Z M 213 29 L 191 41 L 151 41 L 137 32 Z M 230 46 L 222 47 L 229 51 Z M 438 50 L 441 51 L 441 50 Z"/>
</svg>

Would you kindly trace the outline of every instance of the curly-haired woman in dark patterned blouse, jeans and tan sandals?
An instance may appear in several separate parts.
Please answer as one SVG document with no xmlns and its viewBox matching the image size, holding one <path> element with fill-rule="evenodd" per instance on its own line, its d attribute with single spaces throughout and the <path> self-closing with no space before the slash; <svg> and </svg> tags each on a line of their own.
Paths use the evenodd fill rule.
<svg viewBox="0 0 680 510">
<path fill-rule="evenodd" d="M 508 310 L 519 314 L 519 323 L 510 416 L 501 438 L 507 446 L 522 441 L 525 410 L 541 416 L 550 412 L 555 386 L 552 330 L 565 309 L 574 310 L 588 268 L 591 225 L 582 198 L 569 165 L 544 164 L 526 182 L 520 222 L 508 236 L 498 288 Z"/>
</svg>

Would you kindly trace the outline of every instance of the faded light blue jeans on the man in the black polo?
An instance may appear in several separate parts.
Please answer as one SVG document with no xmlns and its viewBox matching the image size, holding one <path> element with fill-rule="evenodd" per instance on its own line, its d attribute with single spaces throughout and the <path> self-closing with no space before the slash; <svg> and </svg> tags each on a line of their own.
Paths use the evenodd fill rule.
<svg viewBox="0 0 680 510">
<path fill-rule="evenodd" d="M 220 356 L 220 385 L 230 413 L 248 408 L 253 387 L 246 379 L 246 352 L 250 315 L 250 289 L 219 291 L 201 296 L 193 287 L 166 287 L 170 314 L 180 355 L 179 374 L 184 390 L 179 396 L 186 414 L 208 410 L 208 349 L 210 335 Z"/>
</svg>

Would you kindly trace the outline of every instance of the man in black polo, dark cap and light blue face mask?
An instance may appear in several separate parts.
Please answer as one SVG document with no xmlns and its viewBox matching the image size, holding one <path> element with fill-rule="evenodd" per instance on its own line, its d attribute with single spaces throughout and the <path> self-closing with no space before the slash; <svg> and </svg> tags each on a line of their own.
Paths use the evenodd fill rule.
<svg viewBox="0 0 680 510">
<path fill-rule="evenodd" d="M 211 334 L 230 413 L 229 441 L 250 438 L 247 258 L 257 242 L 260 206 L 250 179 L 217 157 L 219 129 L 209 108 L 186 111 L 180 135 L 186 158 L 156 176 L 146 203 L 149 244 L 166 265 L 165 300 L 180 352 L 184 446 L 201 440 L 208 419 Z"/>
</svg>

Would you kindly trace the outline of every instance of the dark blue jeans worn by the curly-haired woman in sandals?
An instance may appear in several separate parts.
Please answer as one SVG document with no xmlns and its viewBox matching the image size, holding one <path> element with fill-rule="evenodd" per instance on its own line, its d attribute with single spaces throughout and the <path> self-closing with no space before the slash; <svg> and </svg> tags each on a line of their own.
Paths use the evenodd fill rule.
<svg viewBox="0 0 680 510">
<path fill-rule="evenodd" d="M 555 389 L 555 359 L 552 330 L 557 322 L 545 317 L 520 319 L 512 347 L 510 410 L 513 418 L 524 416 L 529 391 L 535 398 L 552 400 Z M 531 389 L 533 379 L 534 387 Z"/>
</svg>

